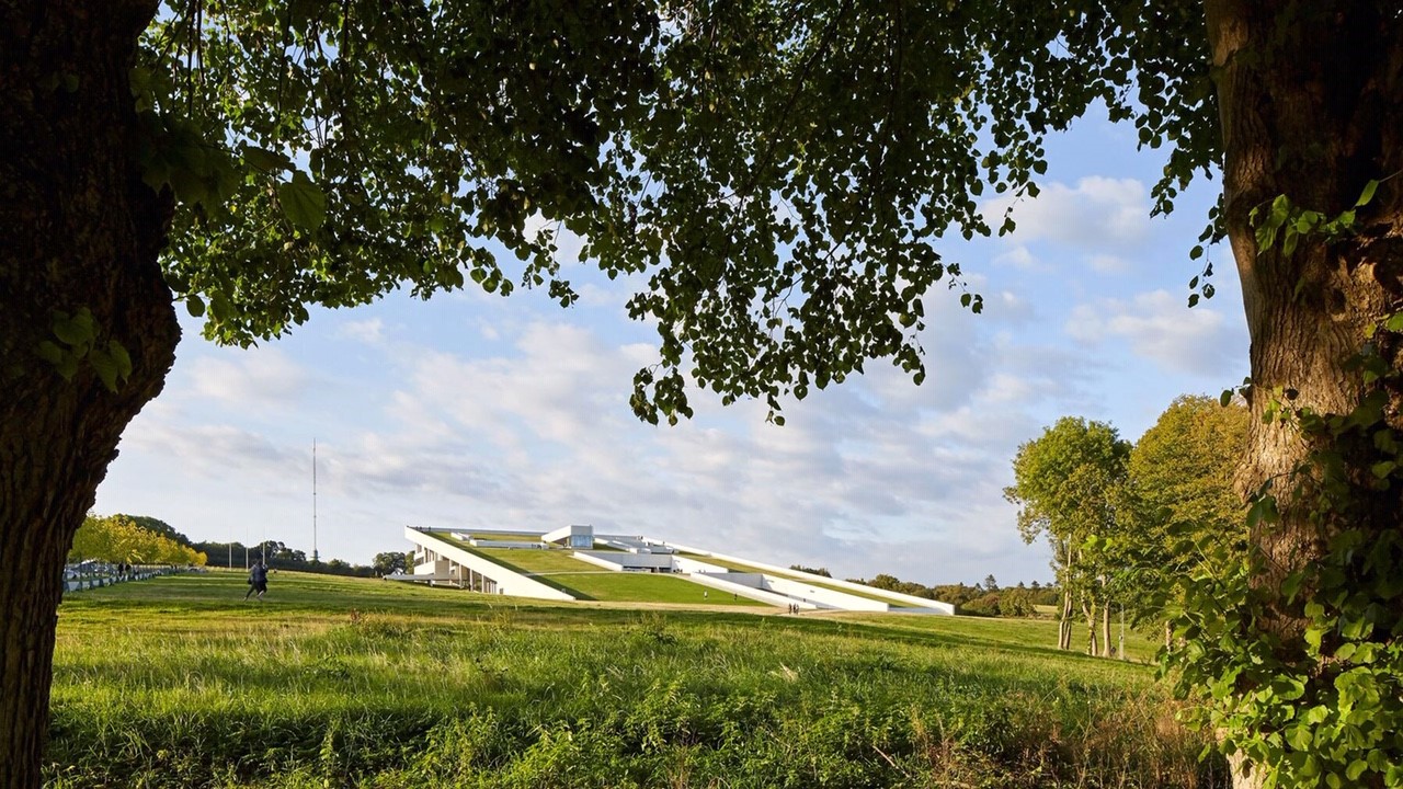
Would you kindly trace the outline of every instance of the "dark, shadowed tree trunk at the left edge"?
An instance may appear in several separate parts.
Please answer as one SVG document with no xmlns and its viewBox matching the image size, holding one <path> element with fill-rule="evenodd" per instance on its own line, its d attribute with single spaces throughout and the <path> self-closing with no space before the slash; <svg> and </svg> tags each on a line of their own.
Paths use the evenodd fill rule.
<svg viewBox="0 0 1403 789">
<path fill-rule="evenodd" d="M 0 786 L 39 786 L 53 635 L 73 533 L 122 430 L 160 392 L 180 327 L 157 253 L 170 201 L 140 180 L 128 73 L 154 0 L 0 0 Z M 93 316 L 90 341 L 55 310 Z M 74 344 L 70 345 L 70 341 Z M 41 343 L 119 343 L 66 380 Z"/>
</svg>

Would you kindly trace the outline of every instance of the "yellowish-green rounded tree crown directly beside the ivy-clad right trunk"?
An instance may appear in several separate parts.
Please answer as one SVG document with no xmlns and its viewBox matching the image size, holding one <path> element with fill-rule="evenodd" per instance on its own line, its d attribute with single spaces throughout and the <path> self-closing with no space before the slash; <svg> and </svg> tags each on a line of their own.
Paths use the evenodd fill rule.
<svg viewBox="0 0 1403 789">
<path fill-rule="evenodd" d="M 1244 403 L 1183 396 L 1131 449 L 1117 577 L 1136 622 L 1167 622 L 1183 608 L 1181 580 L 1222 576 L 1246 556 L 1233 480 L 1249 427 Z"/>
</svg>

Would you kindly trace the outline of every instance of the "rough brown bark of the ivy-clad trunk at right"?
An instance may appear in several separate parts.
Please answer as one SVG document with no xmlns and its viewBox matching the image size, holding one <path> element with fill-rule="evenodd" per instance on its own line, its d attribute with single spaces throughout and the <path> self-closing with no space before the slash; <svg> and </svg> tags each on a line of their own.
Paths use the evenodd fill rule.
<svg viewBox="0 0 1403 789">
<path fill-rule="evenodd" d="M 1403 168 L 1403 42 L 1399 24 L 1367 3 L 1301 3 L 1310 14 L 1292 24 L 1289 39 L 1278 18 L 1285 0 L 1208 0 L 1223 139 L 1226 229 L 1242 279 L 1251 336 L 1250 432 L 1244 489 L 1275 479 L 1282 507 L 1278 524 L 1250 535 L 1266 559 L 1254 578 L 1277 588 L 1291 571 L 1320 556 L 1322 536 L 1301 507 L 1291 507 L 1288 472 L 1309 448 L 1294 431 L 1261 421 L 1275 387 L 1294 389 L 1296 406 L 1345 414 L 1362 394 L 1358 373 L 1344 362 L 1368 341 L 1368 331 L 1403 305 L 1403 190 L 1386 184 L 1365 212 L 1360 234 L 1326 246 L 1303 239 L 1292 256 L 1278 243 L 1258 250 L 1249 212 L 1285 194 L 1327 216 L 1351 208 L 1369 180 Z M 1383 11 L 1388 14 L 1388 11 Z M 1389 359 L 1397 369 L 1396 350 Z M 1399 427 L 1393 397 L 1389 424 Z M 1368 468 L 1348 469 L 1352 475 Z M 1364 529 L 1399 528 L 1397 493 L 1367 503 Z M 1299 601 L 1280 604 L 1264 626 L 1299 649 Z M 1258 786 L 1260 771 L 1236 762 L 1235 786 Z"/>
</svg>

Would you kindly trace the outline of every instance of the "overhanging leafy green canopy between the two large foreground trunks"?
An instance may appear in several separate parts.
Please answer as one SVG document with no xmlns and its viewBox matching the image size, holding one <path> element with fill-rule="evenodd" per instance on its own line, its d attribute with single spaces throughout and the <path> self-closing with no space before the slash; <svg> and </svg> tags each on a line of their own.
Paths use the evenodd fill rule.
<svg viewBox="0 0 1403 789">
<path fill-rule="evenodd" d="M 167 281 L 248 344 L 405 286 L 547 288 L 556 237 L 640 284 L 651 421 L 804 397 L 890 358 L 925 376 L 937 239 L 1007 232 L 1044 135 L 1093 104 L 1169 146 L 1156 211 L 1218 156 L 1193 4 L 189 0 L 132 84 L 177 201 Z M 1211 230 L 1209 230 L 1211 233 Z M 978 312 L 979 296 L 961 293 Z M 208 310 L 208 312 L 206 312 Z M 780 417 L 776 417 L 777 420 Z"/>
</svg>

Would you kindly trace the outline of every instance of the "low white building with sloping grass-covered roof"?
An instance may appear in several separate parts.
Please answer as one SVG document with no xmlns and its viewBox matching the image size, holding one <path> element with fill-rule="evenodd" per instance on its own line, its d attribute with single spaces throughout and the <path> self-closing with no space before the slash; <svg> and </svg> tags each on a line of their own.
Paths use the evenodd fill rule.
<svg viewBox="0 0 1403 789">
<path fill-rule="evenodd" d="M 571 587 L 574 577 L 654 573 L 704 587 L 702 599 L 716 591 L 717 599 L 730 595 L 794 611 L 954 615 L 947 602 L 641 535 L 596 535 L 588 525 L 549 532 L 405 526 L 404 536 L 414 543 L 414 570 L 390 578 L 485 594 L 592 599 Z"/>
</svg>

